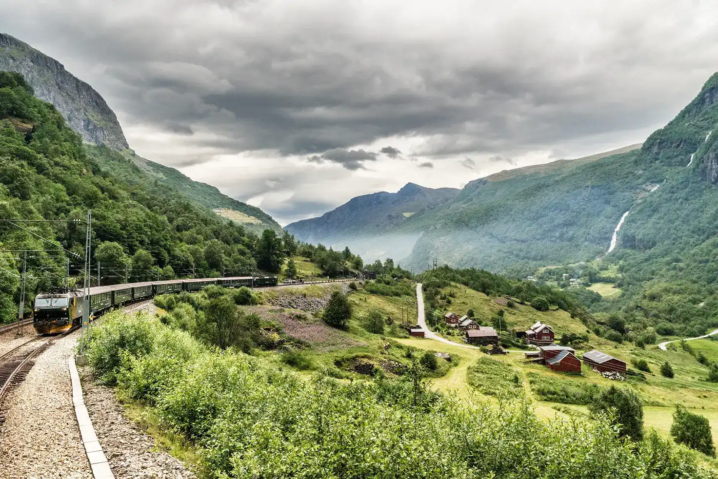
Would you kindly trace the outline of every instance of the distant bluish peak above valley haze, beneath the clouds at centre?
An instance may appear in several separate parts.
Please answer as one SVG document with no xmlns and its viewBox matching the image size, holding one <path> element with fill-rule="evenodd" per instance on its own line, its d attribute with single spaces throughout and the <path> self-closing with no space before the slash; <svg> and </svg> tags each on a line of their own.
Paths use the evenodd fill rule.
<svg viewBox="0 0 718 479">
<path fill-rule="evenodd" d="M 440 208 L 442 204 L 454 199 L 459 191 L 408 183 L 396 193 L 380 191 L 356 196 L 321 217 L 302 219 L 288 224 L 284 229 L 298 240 L 306 242 L 349 245 L 365 259 L 373 260 L 383 256 L 382 252 L 390 246 L 386 243 L 397 241 L 391 238 L 392 232 L 401 228 L 412 215 L 424 209 Z M 371 241 L 380 235 L 381 242 L 375 244 Z M 403 234 L 401 238 L 400 242 L 404 242 Z"/>
</svg>

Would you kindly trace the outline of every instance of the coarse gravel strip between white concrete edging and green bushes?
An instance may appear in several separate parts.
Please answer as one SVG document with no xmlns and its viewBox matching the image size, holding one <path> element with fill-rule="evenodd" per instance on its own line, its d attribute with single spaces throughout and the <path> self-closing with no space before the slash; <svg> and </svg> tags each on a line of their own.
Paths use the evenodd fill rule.
<svg viewBox="0 0 718 479">
<path fill-rule="evenodd" d="M 179 460 L 158 450 L 154 438 L 130 422 L 113 389 L 97 384 L 88 368 L 80 369 L 85 406 L 117 479 L 195 478 Z"/>
</svg>

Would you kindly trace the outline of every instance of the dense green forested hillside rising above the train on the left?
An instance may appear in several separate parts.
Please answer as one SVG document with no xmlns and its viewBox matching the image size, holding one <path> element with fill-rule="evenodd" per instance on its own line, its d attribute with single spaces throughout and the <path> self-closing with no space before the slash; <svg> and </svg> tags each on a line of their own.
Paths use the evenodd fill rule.
<svg viewBox="0 0 718 479">
<path fill-rule="evenodd" d="M 123 162 L 115 170 L 123 170 L 123 175 L 101 168 L 101 163 L 112 162 Z M 176 189 L 136 179 L 132 167 L 120 153 L 84 145 L 55 107 L 34 97 L 21 75 L 0 72 L 0 217 L 84 219 L 92 209 L 93 264 L 101 263 L 102 284 L 174 278 L 193 271 L 197 276 L 272 271 L 286 252 L 294 252 L 289 235 L 283 241 L 266 230 L 258 237 L 193 204 Z M 65 250 L 83 253 L 82 224 L 23 226 Z M 21 265 L 19 253 L 7 251 L 58 248 L 3 223 L 0 249 L 6 251 L 0 254 L 0 319 L 8 321 L 17 314 Z M 30 297 L 62 284 L 65 257 L 65 252 L 32 253 Z M 78 272 L 77 263 L 72 261 L 71 275 Z"/>
</svg>

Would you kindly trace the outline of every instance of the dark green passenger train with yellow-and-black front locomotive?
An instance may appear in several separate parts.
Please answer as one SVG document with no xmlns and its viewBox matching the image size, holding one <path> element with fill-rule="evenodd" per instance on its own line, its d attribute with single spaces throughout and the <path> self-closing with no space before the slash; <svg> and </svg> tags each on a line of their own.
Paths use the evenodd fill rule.
<svg viewBox="0 0 718 479">
<path fill-rule="evenodd" d="M 149 281 L 146 283 L 125 283 L 90 288 L 90 319 L 111 308 L 134 303 L 156 295 L 170 293 L 196 293 L 210 285 L 224 288 L 262 288 L 276 286 L 276 276 L 232 278 L 196 278 L 192 280 Z M 82 290 L 61 289 L 35 296 L 32 305 L 32 326 L 40 334 L 62 333 L 73 326 L 79 326 L 83 318 Z"/>
</svg>

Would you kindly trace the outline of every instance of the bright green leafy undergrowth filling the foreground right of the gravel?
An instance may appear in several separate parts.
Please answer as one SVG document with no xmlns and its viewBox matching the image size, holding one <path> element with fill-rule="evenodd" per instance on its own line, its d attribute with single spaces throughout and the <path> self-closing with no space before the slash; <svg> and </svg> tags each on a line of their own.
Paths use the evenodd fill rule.
<svg viewBox="0 0 718 479">
<path fill-rule="evenodd" d="M 386 379 L 307 379 L 147 318 L 106 316 L 88 358 L 201 447 L 219 478 L 714 477 L 694 452 L 657 435 L 634 447 L 605 421 L 545 424 L 527 402 L 436 396 L 414 407 L 401 391 L 421 393 L 419 381 L 387 401 Z"/>
</svg>

